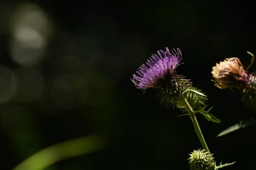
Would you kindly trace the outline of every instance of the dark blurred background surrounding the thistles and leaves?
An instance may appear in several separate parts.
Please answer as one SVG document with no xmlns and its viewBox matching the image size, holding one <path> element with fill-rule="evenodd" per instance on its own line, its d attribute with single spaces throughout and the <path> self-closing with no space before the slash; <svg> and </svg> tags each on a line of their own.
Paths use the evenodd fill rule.
<svg viewBox="0 0 256 170">
<path fill-rule="evenodd" d="M 47 170 L 188 170 L 201 148 L 192 122 L 130 78 L 151 54 L 180 48 L 179 74 L 208 96 L 220 124 L 198 122 L 217 164 L 255 167 L 255 126 L 215 136 L 255 115 L 240 95 L 211 82 L 211 69 L 256 54 L 255 11 L 246 1 L 21 1 L 0 3 L 0 170 L 68 139 L 103 133 L 104 149 Z M 254 71 L 256 65 L 252 66 Z"/>
</svg>

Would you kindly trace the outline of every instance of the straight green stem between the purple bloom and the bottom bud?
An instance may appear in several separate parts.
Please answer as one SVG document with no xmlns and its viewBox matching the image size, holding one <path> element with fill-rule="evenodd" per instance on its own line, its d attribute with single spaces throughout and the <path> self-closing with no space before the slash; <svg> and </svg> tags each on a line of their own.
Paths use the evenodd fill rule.
<svg viewBox="0 0 256 170">
<path fill-rule="evenodd" d="M 186 100 L 186 98 L 184 96 L 182 96 L 182 100 L 183 100 L 183 104 L 185 105 L 187 111 L 189 112 L 190 118 L 191 118 L 191 120 L 193 122 L 193 125 L 195 127 L 195 132 L 198 135 L 198 138 L 200 139 L 200 142 L 201 142 L 202 146 L 204 147 L 204 149 L 206 151 L 210 152 L 209 148 L 207 147 L 207 144 L 204 140 L 204 136 L 203 136 L 203 133 L 201 132 L 198 121 L 195 117 L 195 112 L 193 111 L 193 108 L 191 108 L 191 106 L 189 105 L 188 101 Z"/>
</svg>

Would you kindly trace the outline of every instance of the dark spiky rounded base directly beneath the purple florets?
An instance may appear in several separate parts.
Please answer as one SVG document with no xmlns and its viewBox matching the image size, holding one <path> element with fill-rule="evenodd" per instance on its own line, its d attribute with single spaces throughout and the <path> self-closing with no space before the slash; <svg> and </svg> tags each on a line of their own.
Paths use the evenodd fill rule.
<svg viewBox="0 0 256 170">
<path fill-rule="evenodd" d="M 159 88 L 157 97 L 160 99 L 160 104 L 166 108 L 177 105 L 181 100 L 181 95 L 184 91 L 190 89 L 192 83 L 189 79 L 185 79 L 182 75 L 176 73 L 166 76 L 166 79 L 160 79 L 157 87 Z"/>
</svg>

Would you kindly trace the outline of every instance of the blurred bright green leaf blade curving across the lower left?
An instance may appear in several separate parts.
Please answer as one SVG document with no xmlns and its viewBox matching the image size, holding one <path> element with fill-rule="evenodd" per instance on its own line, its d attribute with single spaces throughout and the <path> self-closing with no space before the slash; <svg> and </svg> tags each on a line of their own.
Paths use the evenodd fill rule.
<svg viewBox="0 0 256 170">
<path fill-rule="evenodd" d="M 89 154 L 102 149 L 105 146 L 103 141 L 100 135 L 90 135 L 60 142 L 40 150 L 12 170 L 44 170 L 63 159 Z"/>
</svg>

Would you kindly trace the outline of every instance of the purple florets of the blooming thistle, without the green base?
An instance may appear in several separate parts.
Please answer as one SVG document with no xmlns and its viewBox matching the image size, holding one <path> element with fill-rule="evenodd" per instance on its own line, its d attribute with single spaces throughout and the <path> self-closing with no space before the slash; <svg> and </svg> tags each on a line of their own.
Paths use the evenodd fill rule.
<svg viewBox="0 0 256 170">
<path fill-rule="evenodd" d="M 175 51 L 175 49 L 174 49 Z M 136 74 L 133 74 L 131 81 L 136 88 L 147 89 L 157 87 L 157 83 L 160 79 L 165 79 L 167 75 L 172 75 L 180 65 L 182 54 L 180 49 L 172 54 L 166 47 L 166 51 L 159 50 L 157 54 L 152 54 L 147 60 L 146 65 L 143 64 L 139 67 Z"/>
</svg>

